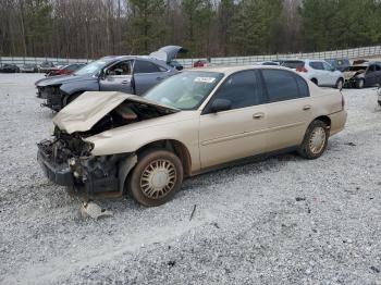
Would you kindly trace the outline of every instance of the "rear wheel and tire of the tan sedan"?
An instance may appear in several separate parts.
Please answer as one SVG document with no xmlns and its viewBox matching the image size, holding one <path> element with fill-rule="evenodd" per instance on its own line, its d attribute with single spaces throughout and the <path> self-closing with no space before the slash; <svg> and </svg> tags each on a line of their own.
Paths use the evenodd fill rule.
<svg viewBox="0 0 381 285">
<path fill-rule="evenodd" d="M 329 135 L 325 123 L 320 120 L 314 121 L 306 131 L 298 150 L 299 154 L 305 159 L 317 159 L 321 157 L 325 151 Z"/>
</svg>

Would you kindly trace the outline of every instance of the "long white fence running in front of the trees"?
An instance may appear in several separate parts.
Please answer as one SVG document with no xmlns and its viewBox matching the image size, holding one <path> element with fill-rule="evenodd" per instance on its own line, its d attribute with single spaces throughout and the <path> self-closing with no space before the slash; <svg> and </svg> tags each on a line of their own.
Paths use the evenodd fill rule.
<svg viewBox="0 0 381 285">
<path fill-rule="evenodd" d="M 211 58 L 212 65 L 246 65 L 260 61 L 284 60 L 284 59 L 333 59 L 333 58 L 366 58 L 381 55 L 381 46 L 372 46 L 365 48 L 332 50 L 322 52 L 307 53 L 287 53 L 287 54 L 271 54 L 271 55 L 254 55 L 254 57 L 231 57 L 231 58 Z M 193 66 L 193 63 L 199 59 L 179 59 L 177 61 L 185 67 Z M 44 61 L 58 63 L 86 63 L 90 59 L 59 59 L 59 58 L 22 58 L 22 57 L 0 57 L 0 65 L 4 63 L 13 63 L 24 65 L 26 63 L 40 64 Z"/>
</svg>

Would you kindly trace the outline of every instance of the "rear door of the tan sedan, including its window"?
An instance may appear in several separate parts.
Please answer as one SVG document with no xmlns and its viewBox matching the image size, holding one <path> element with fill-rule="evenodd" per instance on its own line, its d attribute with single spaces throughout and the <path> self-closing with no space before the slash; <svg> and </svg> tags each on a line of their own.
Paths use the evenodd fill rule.
<svg viewBox="0 0 381 285">
<path fill-rule="evenodd" d="M 262 70 L 261 73 L 268 97 L 268 150 L 300 145 L 314 115 L 306 80 L 283 70 Z"/>
</svg>

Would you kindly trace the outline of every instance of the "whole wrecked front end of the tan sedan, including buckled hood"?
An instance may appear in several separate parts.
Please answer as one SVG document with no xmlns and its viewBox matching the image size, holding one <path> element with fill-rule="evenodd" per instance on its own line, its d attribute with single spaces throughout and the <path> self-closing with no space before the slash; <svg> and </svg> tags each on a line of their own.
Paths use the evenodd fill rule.
<svg viewBox="0 0 381 285">
<path fill-rule="evenodd" d="M 137 162 L 135 152 L 94 154 L 97 145 L 90 138 L 176 111 L 133 95 L 85 92 L 54 116 L 53 138 L 37 144 L 38 162 L 51 182 L 73 187 L 88 198 L 121 196 Z M 112 144 L 112 139 L 107 140 Z"/>
</svg>

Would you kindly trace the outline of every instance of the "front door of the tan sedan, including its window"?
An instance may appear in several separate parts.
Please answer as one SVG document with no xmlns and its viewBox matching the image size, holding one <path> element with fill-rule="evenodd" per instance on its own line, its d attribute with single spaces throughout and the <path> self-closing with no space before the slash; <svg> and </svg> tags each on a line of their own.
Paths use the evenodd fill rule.
<svg viewBox="0 0 381 285">
<path fill-rule="evenodd" d="M 201 168 L 250 157 L 266 151 L 267 111 L 257 71 L 242 71 L 228 77 L 200 116 Z M 232 102 L 232 109 L 210 113 L 216 99 Z"/>
</svg>

